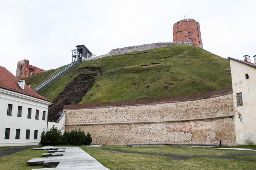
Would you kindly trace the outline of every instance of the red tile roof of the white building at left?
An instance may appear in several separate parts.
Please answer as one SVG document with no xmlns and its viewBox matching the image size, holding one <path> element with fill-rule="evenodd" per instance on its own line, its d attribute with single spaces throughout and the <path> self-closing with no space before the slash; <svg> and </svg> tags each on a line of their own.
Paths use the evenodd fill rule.
<svg viewBox="0 0 256 170">
<path fill-rule="evenodd" d="M 11 72 L 9 72 L 6 68 L 2 66 L 0 66 L 0 88 L 52 102 L 49 99 L 37 94 L 33 89 L 28 87 L 28 85 L 26 84 L 24 90 L 20 88 L 20 86 L 18 85 L 18 77 L 14 76 Z"/>
</svg>

